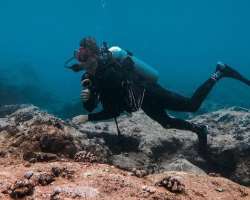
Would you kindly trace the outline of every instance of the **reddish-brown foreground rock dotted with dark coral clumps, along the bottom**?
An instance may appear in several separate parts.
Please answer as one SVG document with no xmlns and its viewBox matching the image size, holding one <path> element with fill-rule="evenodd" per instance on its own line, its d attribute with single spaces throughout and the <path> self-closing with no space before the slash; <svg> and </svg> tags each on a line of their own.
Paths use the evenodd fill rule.
<svg viewBox="0 0 250 200">
<path fill-rule="evenodd" d="M 3 161 L 0 160 L 1 164 Z M 56 171 L 60 173 L 54 174 Z M 71 176 L 62 176 L 70 169 Z M 165 172 L 137 178 L 106 164 L 58 161 L 0 165 L 0 199 L 248 200 L 250 189 L 221 177 Z M 28 171 L 28 172 L 27 172 Z M 26 174 L 32 171 L 31 178 Z M 53 173 L 52 173 L 53 172 Z"/>
</svg>

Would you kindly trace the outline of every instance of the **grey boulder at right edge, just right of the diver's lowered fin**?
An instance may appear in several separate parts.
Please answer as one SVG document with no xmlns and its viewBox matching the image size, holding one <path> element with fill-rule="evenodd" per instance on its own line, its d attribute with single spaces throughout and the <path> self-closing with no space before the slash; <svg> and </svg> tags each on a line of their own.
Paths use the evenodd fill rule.
<svg viewBox="0 0 250 200">
<path fill-rule="evenodd" d="M 240 107 L 196 117 L 209 125 L 209 163 L 224 176 L 250 185 L 250 111 Z"/>
</svg>

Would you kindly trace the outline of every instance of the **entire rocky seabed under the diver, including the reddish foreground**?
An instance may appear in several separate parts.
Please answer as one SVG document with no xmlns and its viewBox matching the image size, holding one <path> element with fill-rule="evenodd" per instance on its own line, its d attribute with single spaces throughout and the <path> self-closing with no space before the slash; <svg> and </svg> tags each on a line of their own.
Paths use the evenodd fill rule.
<svg viewBox="0 0 250 200">
<path fill-rule="evenodd" d="M 128 186 L 132 184 L 131 181 L 136 185 L 133 194 L 140 199 L 167 199 L 171 195 L 175 199 L 174 192 L 179 191 L 178 185 L 181 185 L 182 192 L 184 188 L 191 189 L 187 194 L 193 199 L 199 198 L 192 195 L 199 193 L 204 196 L 204 192 L 207 193 L 203 199 L 209 199 L 213 192 L 219 196 L 224 195 L 221 199 L 230 199 L 229 191 L 235 193 L 233 198 L 236 199 L 249 197 L 249 189 L 220 178 L 224 176 L 250 186 L 248 110 L 234 107 L 192 119 L 209 125 L 209 153 L 206 158 L 197 153 L 195 133 L 163 129 L 142 112 L 137 112 L 132 117 L 122 116 L 118 121 L 122 133 L 119 137 L 113 121 L 75 126 L 31 105 L 0 107 L 0 198 L 1 195 L 33 195 L 37 199 L 65 196 L 73 199 L 75 195 L 80 195 L 81 199 L 81 195 L 97 198 L 100 193 L 115 196 L 113 190 L 130 188 L 131 192 L 132 189 Z M 83 166 L 87 171 L 82 169 Z M 114 166 L 126 171 L 119 171 Z M 118 171 L 121 174 L 117 180 L 110 177 L 111 174 L 117 177 Z M 179 171 L 179 174 L 173 171 Z M 22 176 L 19 176 L 21 172 Z M 179 180 L 175 173 L 177 177 L 182 177 L 184 183 L 175 181 Z M 93 178 L 94 186 L 83 184 L 83 174 L 84 177 Z M 40 177 L 37 179 L 40 182 L 33 181 L 37 176 Z M 23 180 L 23 177 L 29 181 Z M 66 178 L 69 185 L 60 185 L 57 177 Z M 102 177 L 100 182 L 98 177 Z M 130 182 L 120 182 L 123 179 L 129 179 Z M 138 188 L 139 182 L 145 180 L 149 181 L 147 185 Z M 195 183 L 190 186 L 190 180 L 199 183 L 200 188 L 193 188 Z M 18 181 L 21 181 L 19 185 L 16 184 Z M 71 181 L 76 181 L 79 191 Z M 39 196 L 43 194 L 41 187 L 47 187 L 52 182 L 58 188 L 54 187 L 50 191 L 50 187 L 50 196 Z M 78 182 L 83 185 L 80 186 Z M 111 186 L 104 189 L 105 184 Z M 204 188 L 211 187 L 207 184 L 212 184 L 214 188 L 206 191 Z M 164 196 L 166 189 L 170 190 L 170 196 Z"/>
</svg>

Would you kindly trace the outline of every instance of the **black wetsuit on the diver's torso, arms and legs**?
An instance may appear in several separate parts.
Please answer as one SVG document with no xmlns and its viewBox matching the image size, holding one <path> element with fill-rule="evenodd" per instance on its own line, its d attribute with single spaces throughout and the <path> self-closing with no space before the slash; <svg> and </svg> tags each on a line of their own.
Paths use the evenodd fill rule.
<svg viewBox="0 0 250 200">
<path fill-rule="evenodd" d="M 98 102 L 101 102 L 103 106 L 102 111 L 89 114 L 89 121 L 111 119 L 126 111 L 127 105 L 124 102 L 126 92 L 122 87 L 124 81 L 122 72 L 113 67 L 98 67 L 94 77 L 85 74 L 82 79 L 85 79 L 86 76 L 92 80 L 93 84 L 91 98 L 84 103 L 84 107 L 92 112 Z M 191 130 L 197 133 L 199 126 L 182 119 L 172 118 L 165 110 L 196 112 L 215 83 L 215 80 L 209 78 L 191 98 L 169 91 L 157 83 L 138 81 L 135 85 L 139 93 L 145 89 L 141 108 L 151 119 L 157 121 L 164 128 Z"/>
</svg>

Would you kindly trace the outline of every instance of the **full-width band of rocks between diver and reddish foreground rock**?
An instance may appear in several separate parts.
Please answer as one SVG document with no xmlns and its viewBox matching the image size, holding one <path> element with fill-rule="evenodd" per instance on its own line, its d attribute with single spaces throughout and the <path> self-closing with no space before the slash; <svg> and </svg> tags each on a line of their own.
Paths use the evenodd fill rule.
<svg viewBox="0 0 250 200">
<path fill-rule="evenodd" d="M 197 153 L 195 133 L 164 129 L 143 112 L 113 121 L 74 126 L 34 106 L 0 109 L 0 152 L 30 161 L 75 158 L 78 162 L 110 163 L 129 171 L 152 174 L 184 171 L 219 173 L 250 185 L 250 112 L 223 109 L 191 121 L 209 126 L 208 156 Z"/>
</svg>

